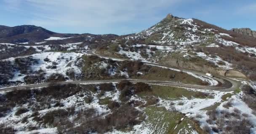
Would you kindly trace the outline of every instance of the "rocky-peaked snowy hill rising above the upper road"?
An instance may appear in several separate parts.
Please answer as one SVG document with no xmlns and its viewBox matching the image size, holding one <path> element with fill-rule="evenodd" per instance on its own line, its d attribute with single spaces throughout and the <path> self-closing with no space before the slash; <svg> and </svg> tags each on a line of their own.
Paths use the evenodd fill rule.
<svg viewBox="0 0 256 134">
<path fill-rule="evenodd" d="M 256 38 L 197 19 L 168 15 L 155 26 L 110 44 L 116 49 L 105 49 L 131 59 L 218 75 L 225 75 L 227 70 L 238 70 L 255 79 L 255 42 Z"/>
</svg>

